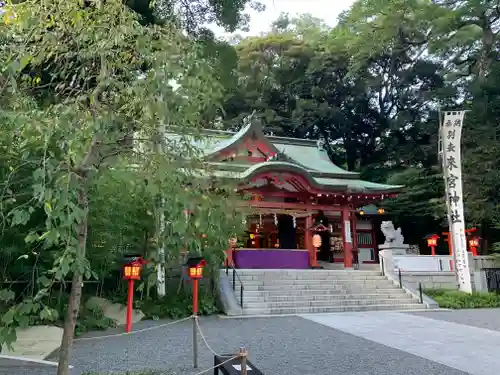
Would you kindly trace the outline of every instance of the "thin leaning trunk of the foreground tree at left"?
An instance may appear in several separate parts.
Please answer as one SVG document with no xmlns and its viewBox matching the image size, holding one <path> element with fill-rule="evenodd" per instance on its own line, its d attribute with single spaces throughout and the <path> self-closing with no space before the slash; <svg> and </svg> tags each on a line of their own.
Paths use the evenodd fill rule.
<svg viewBox="0 0 500 375">
<path fill-rule="evenodd" d="M 76 320 L 80 311 L 80 302 L 82 299 L 83 275 L 80 272 L 81 264 L 85 259 L 87 246 L 87 211 L 88 211 L 88 192 L 84 184 L 79 195 L 78 204 L 85 211 L 85 217 L 79 225 L 78 230 L 78 249 L 75 257 L 76 267 L 73 271 L 73 279 L 71 280 L 71 294 L 69 296 L 68 311 L 64 322 L 63 337 L 61 340 L 61 348 L 59 349 L 59 364 L 57 366 L 57 375 L 68 375 L 69 373 L 69 357 L 73 346 L 73 338 L 75 335 Z"/>
</svg>

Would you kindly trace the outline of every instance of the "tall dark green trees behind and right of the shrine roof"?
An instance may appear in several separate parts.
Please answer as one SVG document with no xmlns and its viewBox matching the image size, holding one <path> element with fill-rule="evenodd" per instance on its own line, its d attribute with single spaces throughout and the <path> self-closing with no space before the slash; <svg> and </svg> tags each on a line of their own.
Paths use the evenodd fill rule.
<svg viewBox="0 0 500 375">
<path fill-rule="evenodd" d="M 255 110 L 267 131 L 321 136 L 340 167 L 405 185 L 384 206 L 417 243 L 447 226 L 438 109 L 470 109 L 466 219 L 486 252 L 500 241 L 497 18 L 494 4 L 477 0 L 357 0 L 333 28 L 281 15 L 235 46 L 238 85 L 225 98 L 224 125 L 239 129 Z"/>
</svg>

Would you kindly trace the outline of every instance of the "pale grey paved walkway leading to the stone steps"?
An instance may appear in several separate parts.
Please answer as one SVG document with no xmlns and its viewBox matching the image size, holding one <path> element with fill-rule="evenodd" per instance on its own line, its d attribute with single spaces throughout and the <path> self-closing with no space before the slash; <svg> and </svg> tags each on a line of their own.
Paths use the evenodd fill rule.
<svg viewBox="0 0 500 375">
<path fill-rule="evenodd" d="M 491 375 L 500 367 L 500 357 L 492 355 L 500 348 L 500 332 L 428 314 L 366 312 L 302 317 L 473 375 Z"/>
</svg>

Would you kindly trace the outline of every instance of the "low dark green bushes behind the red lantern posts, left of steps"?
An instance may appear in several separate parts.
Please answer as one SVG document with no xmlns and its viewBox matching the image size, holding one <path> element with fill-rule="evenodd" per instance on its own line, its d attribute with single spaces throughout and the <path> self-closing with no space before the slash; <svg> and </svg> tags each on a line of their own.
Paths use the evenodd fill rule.
<svg viewBox="0 0 500 375">
<path fill-rule="evenodd" d="M 145 319 L 180 319 L 192 314 L 193 297 L 190 292 L 169 293 L 157 300 L 138 301 L 137 308 L 145 314 Z M 199 315 L 212 315 L 219 312 L 214 295 L 200 289 L 198 309 Z"/>
</svg>

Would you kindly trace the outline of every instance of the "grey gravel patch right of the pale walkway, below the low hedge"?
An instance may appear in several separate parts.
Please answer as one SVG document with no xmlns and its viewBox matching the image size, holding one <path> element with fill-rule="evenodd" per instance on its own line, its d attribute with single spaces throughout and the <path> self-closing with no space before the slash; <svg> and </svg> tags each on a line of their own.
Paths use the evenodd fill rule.
<svg viewBox="0 0 500 375">
<path fill-rule="evenodd" d="M 424 318 L 445 320 L 465 324 L 472 327 L 500 331 L 500 309 L 464 309 L 442 310 L 429 312 L 410 312 L 407 314 L 419 315 Z"/>
</svg>

